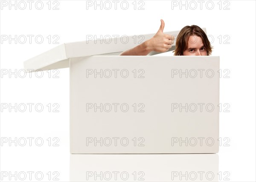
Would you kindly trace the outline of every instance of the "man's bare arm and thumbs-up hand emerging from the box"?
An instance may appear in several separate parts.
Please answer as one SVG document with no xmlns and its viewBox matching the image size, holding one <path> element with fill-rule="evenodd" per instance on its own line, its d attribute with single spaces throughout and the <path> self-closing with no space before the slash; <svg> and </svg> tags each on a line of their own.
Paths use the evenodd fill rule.
<svg viewBox="0 0 256 182">
<path fill-rule="evenodd" d="M 161 26 L 153 38 L 144 43 L 122 52 L 120 55 L 148 55 L 151 51 L 166 52 L 172 47 L 174 37 L 163 33 L 164 21 L 161 20 Z"/>
</svg>

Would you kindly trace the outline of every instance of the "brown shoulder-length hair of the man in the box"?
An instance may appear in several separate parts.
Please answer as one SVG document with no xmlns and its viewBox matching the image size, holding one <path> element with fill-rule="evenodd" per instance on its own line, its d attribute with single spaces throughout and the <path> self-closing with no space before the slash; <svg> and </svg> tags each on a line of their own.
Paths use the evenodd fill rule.
<svg viewBox="0 0 256 182">
<path fill-rule="evenodd" d="M 176 47 L 173 52 L 174 55 L 183 55 L 183 51 L 188 48 L 189 37 L 196 35 L 200 37 L 204 43 L 205 49 L 207 50 L 207 55 L 212 54 L 212 46 L 207 38 L 206 33 L 199 26 L 185 26 L 180 30 L 180 33 L 177 36 Z"/>
</svg>

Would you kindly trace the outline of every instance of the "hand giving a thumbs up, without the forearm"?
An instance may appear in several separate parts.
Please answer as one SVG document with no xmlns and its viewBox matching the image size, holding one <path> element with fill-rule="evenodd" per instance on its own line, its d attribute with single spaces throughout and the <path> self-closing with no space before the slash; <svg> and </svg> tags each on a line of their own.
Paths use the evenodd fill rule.
<svg viewBox="0 0 256 182">
<path fill-rule="evenodd" d="M 161 19 L 161 26 L 153 38 L 148 40 L 148 49 L 155 52 L 166 52 L 172 47 L 174 37 L 163 33 L 165 23 Z"/>
</svg>

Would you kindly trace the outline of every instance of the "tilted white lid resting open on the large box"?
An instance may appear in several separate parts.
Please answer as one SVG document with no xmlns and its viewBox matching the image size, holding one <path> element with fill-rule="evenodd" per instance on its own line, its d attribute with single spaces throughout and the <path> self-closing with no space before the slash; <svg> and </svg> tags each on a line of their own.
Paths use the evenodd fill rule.
<svg viewBox="0 0 256 182">
<path fill-rule="evenodd" d="M 202 28 L 206 32 L 205 28 Z M 177 35 L 180 31 L 164 32 L 175 36 L 174 44 L 169 51 L 175 50 Z M 119 55 L 121 52 L 131 49 L 146 40 L 152 38 L 153 34 L 130 35 L 110 37 L 103 39 L 85 40 L 72 43 L 63 43 L 40 55 L 24 61 L 24 69 L 60 69 L 69 67 L 69 58 L 85 57 L 92 55 Z M 151 52 L 149 55 L 159 54 Z"/>
</svg>

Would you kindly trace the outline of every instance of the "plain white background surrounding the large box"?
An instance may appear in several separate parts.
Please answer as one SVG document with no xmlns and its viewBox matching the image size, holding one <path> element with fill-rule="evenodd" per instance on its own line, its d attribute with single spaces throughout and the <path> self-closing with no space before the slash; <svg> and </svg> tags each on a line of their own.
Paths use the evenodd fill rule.
<svg viewBox="0 0 256 182">
<path fill-rule="evenodd" d="M 9 3 L 9 1 L 6 1 Z M 255 9 L 254 0 L 230 0 L 212 1 L 211 4 L 204 1 L 200 8 L 200 3 L 190 3 L 188 7 L 172 6 L 174 1 L 169 0 L 145 0 L 134 10 L 134 0 L 128 1 L 129 8 L 124 10 L 114 4 L 111 10 L 102 10 L 86 6 L 83 0 L 58 0 L 58 3 L 50 3 L 48 0 L 42 1 L 44 8 L 35 8 L 32 3 L 31 10 L 29 3 L 26 9 L 21 10 L 24 4 L 20 3 L 20 8 L 12 6 L 1 6 L 0 9 L 0 34 L 11 35 L 34 35 L 32 43 L 29 39 L 25 43 L 12 40 L 3 40 L 0 44 L 0 67 L 1 67 L 1 103 L 41 103 L 44 105 L 42 112 L 37 112 L 32 107 L 25 112 L 14 109 L 9 112 L 4 109 L 1 112 L 0 136 L 1 154 L 0 170 L 15 174 L 24 171 L 27 177 L 24 181 L 39 181 L 35 178 L 35 173 L 41 171 L 44 179 L 49 181 L 54 176 L 59 181 L 69 181 L 84 178 L 82 169 L 90 171 L 144 171 L 145 181 L 172 181 L 171 169 L 186 168 L 184 161 L 191 162 L 191 170 L 194 165 L 201 164 L 218 171 L 219 181 L 225 181 L 224 177 L 230 181 L 255 181 Z M 92 1 L 94 3 L 94 1 Z M 99 1 L 98 1 L 99 2 Z M 112 1 L 111 1 L 112 2 Z M 121 2 L 121 1 L 120 1 Z M 3 3 L 3 1 L 1 1 Z M 15 3 L 15 1 L 12 1 Z M 16 1 L 18 4 L 19 1 Z M 183 4 L 186 1 L 182 1 Z M 197 5 L 195 10 L 192 10 Z M 220 7 L 220 4 L 222 5 Z M 58 5 L 58 10 L 53 7 Z M 139 10 L 139 6 L 142 10 Z M 189 6 L 190 5 L 190 6 Z M 40 8 L 40 5 L 38 5 Z M 226 9 L 225 9 L 226 7 Z M 23 61 L 45 52 L 61 43 L 86 40 L 86 35 L 95 35 L 100 38 L 102 35 L 141 35 L 156 33 L 160 27 L 160 19 L 165 21 L 164 32 L 180 30 L 186 25 L 198 25 L 207 29 L 207 35 L 214 38 L 212 55 L 220 56 L 221 69 L 229 69 L 230 78 L 220 79 L 220 103 L 228 103 L 230 112 L 220 113 L 220 137 L 222 144 L 218 154 L 207 156 L 205 154 L 197 156 L 176 157 L 173 155 L 70 155 L 69 151 L 69 69 L 59 69 L 58 77 L 49 76 L 49 72 L 44 72 L 42 78 L 37 78 L 32 74 L 32 78 L 27 75 L 25 78 L 15 78 L 15 75 L 3 75 L 4 70 L 23 69 Z M 43 43 L 36 43 L 35 36 L 41 35 Z M 52 38 L 49 43 L 47 38 Z M 57 35 L 59 44 L 54 44 L 53 36 Z M 226 36 L 226 37 L 224 37 Z M 220 40 L 221 38 L 221 40 Z M 228 40 L 227 40 L 228 38 Z M 40 39 L 38 39 L 40 40 Z M 224 40 L 227 40 L 224 43 Z M 20 41 L 23 41 L 21 39 Z M 86 51 L 86 50 L 84 50 Z M 165 53 L 165 54 L 170 54 Z M 55 74 L 55 72 L 51 72 Z M 51 112 L 48 111 L 47 104 L 51 104 Z M 59 104 L 59 112 L 52 112 L 53 104 Z M 28 106 L 28 105 L 27 105 Z M 35 106 L 35 105 L 34 105 Z M 4 139 L 26 138 L 27 144 L 20 146 L 15 142 L 4 143 Z M 29 139 L 33 137 L 32 146 L 29 146 Z M 40 147 L 35 144 L 35 139 L 41 137 L 44 144 Z M 50 146 L 49 146 L 50 137 Z M 53 139 L 53 138 L 58 138 Z M 224 138 L 227 139 L 224 140 Z M 48 140 L 47 140 L 48 139 Z M 230 146 L 224 146 L 227 142 Z M 39 142 L 39 141 L 38 141 Z M 57 142 L 59 146 L 53 146 Z M 40 143 L 40 142 L 39 142 Z M 227 145 L 226 144 L 226 145 Z M 11 145 L 11 146 L 9 146 Z M 180 159 L 174 161 L 174 159 Z M 196 160 L 195 160 L 196 159 Z M 197 162 L 197 160 L 199 160 Z M 201 160 L 201 161 L 200 161 Z M 212 160 L 212 162 L 210 162 Z M 77 162 L 79 161 L 79 162 Z M 78 164 L 79 163 L 79 164 Z M 213 164 L 214 163 L 214 164 Z M 217 167 L 216 167 L 217 166 Z M 79 173 L 80 169 L 81 173 Z M 177 170 L 177 168 L 176 168 Z M 33 171 L 32 180 L 29 180 L 28 171 Z M 54 172 L 57 173 L 54 173 Z M 207 172 L 208 169 L 205 169 Z M 49 176 L 49 172 L 51 176 Z M 224 173 L 226 172 L 226 173 Z M 48 174 L 47 174 L 48 173 Z M 132 173 L 132 172 L 131 172 Z M 129 174 L 132 176 L 129 172 Z M 220 175 L 222 174 L 222 176 Z M 20 173 L 21 175 L 21 173 Z M 38 175 L 40 177 L 40 175 Z M 3 177 L 3 176 L 2 176 Z M 20 176 L 23 178 L 23 176 Z M 11 178 L 11 181 L 20 181 L 18 177 Z M 99 178 L 98 178 L 99 179 Z M 93 181 L 93 178 L 90 178 Z M 131 178 L 133 180 L 133 178 Z M 130 181 L 131 181 L 130 180 Z M 178 180 L 178 179 L 176 179 Z M 9 177 L 3 177 L 3 181 L 9 181 Z M 101 181 L 100 179 L 98 181 Z M 104 180 L 102 180 L 104 181 Z M 113 180 L 114 181 L 114 180 Z M 119 179 L 119 181 L 122 181 Z M 129 180 L 127 180 L 129 181 Z M 186 181 L 186 180 L 185 180 Z M 200 181 L 200 180 L 199 180 Z"/>
</svg>

